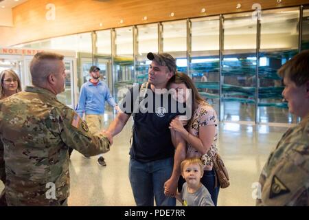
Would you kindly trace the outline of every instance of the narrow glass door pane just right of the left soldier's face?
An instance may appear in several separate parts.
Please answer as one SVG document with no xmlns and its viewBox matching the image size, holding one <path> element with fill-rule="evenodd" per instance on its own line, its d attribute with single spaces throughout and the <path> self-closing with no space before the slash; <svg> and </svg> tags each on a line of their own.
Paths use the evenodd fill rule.
<svg viewBox="0 0 309 220">
<path fill-rule="evenodd" d="M 57 95 L 58 100 L 60 102 L 67 104 L 67 106 L 73 107 L 73 92 L 72 92 L 72 82 L 71 79 L 73 78 L 73 62 L 72 61 L 65 61 L 65 91 L 61 94 Z"/>
</svg>

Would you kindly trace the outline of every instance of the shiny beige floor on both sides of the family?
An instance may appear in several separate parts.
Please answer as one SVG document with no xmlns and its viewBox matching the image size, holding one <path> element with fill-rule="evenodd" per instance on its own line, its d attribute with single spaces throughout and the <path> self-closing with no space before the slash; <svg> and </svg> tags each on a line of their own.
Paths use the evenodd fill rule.
<svg viewBox="0 0 309 220">
<path fill-rule="evenodd" d="M 111 118 L 111 117 L 109 117 Z M 110 120 L 106 115 L 104 126 Z M 135 206 L 128 180 L 128 150 L 132 120 L 114 138 L 111 151 L 104 155 L 107 166 L 97 157 L 87 159 L 77 151 L 71 157 L 69 206 Z M 221 123 L 218 148 L 229 170 L 231 186 L 221 189 L 218 206 L 254 206 L 252 184 L 286 127 Z M 0 190 L 3 185 L 0 184 Z"/>
</svg>

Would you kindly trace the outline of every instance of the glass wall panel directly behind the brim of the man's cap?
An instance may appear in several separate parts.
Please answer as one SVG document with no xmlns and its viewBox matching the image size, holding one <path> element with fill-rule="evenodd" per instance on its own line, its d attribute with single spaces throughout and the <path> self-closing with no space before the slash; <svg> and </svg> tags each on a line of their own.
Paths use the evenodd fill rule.
<svg viewBox="0 0 309 220">
<path fill-rule="evenodd" d="M 148 80 L 148 67 L 151 61 L 148 52 L 158 52 L 158 24 L 137 26 L 137 63 L 135 81 L 139 84 Z"/>
</svg>

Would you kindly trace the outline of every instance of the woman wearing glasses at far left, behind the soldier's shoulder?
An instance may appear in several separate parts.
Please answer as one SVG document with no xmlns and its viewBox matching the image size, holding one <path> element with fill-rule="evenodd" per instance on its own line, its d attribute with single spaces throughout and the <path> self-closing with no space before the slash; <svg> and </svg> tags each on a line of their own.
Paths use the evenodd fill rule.
<svg viewBox="0 0 309 220">
<path fill-rule="evenodd" d="M 21 80 L 12 69 L 5 69 L 0 74 L 0 100 L 21 91 Z"/>
</svg>

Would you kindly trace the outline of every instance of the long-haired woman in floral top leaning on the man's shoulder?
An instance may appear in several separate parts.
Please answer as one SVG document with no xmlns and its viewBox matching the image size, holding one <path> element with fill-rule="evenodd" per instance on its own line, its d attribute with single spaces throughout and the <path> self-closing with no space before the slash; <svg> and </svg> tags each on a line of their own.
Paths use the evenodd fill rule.
<svg viewBox="0 0 309 220">
<path fill-rule="evenodd" d="M 202 184 L 207 188 L 215 206 L 217 205 L 220 186 L 216 180 L 216 173 L 211 158 L 216 155 L 218 149 L 218 117 L 216 111 L 208 104 L 194 86 L 191 78 L 183 73 L 176 73 L 168 82 L 169 89 L 175 89 L 175 98 L 178 102 L 185 102 L 190 108 L 192 116 L 187 126 L 179 119 L 170 122 L 170 129 L 179 132 L 187 142 L 186 158 L 204 158 L 204 175 L 201 178 Z M 190 97 L 191 96 L 191 97 Z M 190 97 L 190 98 L 189 98 Z M 188 103 L 190 102 L 190 103 Z M 185 180 L 179 179 L 179 191 Z"/>
</svg>

